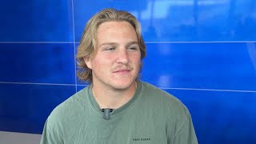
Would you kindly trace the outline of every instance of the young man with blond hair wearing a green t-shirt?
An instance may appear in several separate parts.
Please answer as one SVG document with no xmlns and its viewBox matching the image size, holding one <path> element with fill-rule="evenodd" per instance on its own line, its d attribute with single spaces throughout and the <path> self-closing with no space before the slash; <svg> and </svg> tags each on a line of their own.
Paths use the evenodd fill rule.
<svg viewBox="0 0 256 144">
<path fill-rule="evenodd" d="M 41 144 L 196 144 L 186 106 L 138 78 L 146 45 L 138 20 L 102 10 L 78 46 L 78 77 L 90 82 L 47 118 Z"/>
</svg>

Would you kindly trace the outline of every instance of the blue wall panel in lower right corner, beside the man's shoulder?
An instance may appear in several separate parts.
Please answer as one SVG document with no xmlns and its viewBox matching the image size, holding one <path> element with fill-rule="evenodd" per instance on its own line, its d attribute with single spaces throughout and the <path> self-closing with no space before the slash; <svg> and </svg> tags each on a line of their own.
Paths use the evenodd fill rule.
<svg viewBox="0 0 256 144">
<path fill-rule="evenodd" d="M 199 143 L 256 143 L 256 93 L 166 90 L 190 110 Z"/>
</svg>

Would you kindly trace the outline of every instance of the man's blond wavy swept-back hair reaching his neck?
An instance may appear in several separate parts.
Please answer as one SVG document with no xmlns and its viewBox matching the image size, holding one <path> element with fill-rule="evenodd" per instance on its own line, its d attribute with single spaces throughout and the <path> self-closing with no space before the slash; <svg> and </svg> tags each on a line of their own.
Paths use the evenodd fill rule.
<svg viewBox="0 0 256 144">
<path fill-rule="evenodd" d="M 98 26 L 101 25 L 103 22 L 113 21 L 129 22 L 130 25 L 134 27 L 134 30 L 138 37 L 138 46 L 141 51 L 141 60 L 146 57 L 146 45 L 142 38 L 142 29 L 137 18 L 135 18 L 133 14 L 130 14 L 124 10 L 102 10 L 95 14 L 94 17 L 90 18 L 90 20 L 86 24 L 85 29 L 83 30 L 82 38 L 80 40 L 76 56 L 78 64 L 77 75 L 80 80 L 89 83 L 93 82 L 92 70 L 90 70 L 86 66 L 84 58 L 94 58 L 96 51 L 96 32 L 98 30 Z"/>
</svg>

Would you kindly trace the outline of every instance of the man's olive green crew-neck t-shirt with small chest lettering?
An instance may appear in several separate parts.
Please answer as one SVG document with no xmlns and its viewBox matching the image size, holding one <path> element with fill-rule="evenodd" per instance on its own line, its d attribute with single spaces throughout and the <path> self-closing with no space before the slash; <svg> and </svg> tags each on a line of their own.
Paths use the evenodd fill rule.
<svg viewBox="0 0 256 144">
<path fill-rule="evenodd" d="M 47 118 L 41 144 L 197 144 L 186 106 L 177 98 L 138 81 L 134 97 L 110 119 L 91 86 L 57 106 Z"/>
</svg>

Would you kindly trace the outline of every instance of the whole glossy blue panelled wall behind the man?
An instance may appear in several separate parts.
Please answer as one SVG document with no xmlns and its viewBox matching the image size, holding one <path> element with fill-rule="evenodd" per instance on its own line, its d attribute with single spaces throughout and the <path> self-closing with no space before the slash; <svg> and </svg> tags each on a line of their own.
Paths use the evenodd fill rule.
<svg viewBox="0 0 256 144">
<path fill-rule="evenodd" d="M 86 86 L 75 52 L 107 7 L 142 24 L 142 80 L 188 107 L 199 143 L 256 143 L 256 1 L 10 0 L 0 5 L 0 130 L 42 134 L 55 106 Z"/>
</svg>

